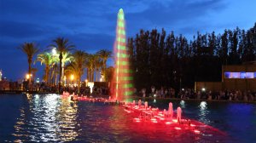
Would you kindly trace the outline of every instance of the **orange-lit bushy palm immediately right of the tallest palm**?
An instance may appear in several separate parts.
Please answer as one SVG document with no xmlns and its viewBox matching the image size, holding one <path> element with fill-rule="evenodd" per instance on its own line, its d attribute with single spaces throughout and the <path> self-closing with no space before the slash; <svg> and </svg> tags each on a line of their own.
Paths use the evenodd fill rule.
<svg viewBox="0 0 256 143">
<path fill-rule="evenodd" d="M 78 87 L 80 89 L 81 77 L 84 74 L 86 55 L 84 51 L 78 50 L 73 54 L 73 62 L 67 66 L 67 72 L 71 72 L 77 77 Z"/>
</svg>

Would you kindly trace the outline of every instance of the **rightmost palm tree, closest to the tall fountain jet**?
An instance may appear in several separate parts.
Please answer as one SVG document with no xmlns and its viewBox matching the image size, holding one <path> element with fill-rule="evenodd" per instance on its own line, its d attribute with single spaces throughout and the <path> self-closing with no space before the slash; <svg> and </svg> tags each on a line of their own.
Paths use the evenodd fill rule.
<svg viewBox="0 0 256 143">
<path fill-rule="evenodd" d="M 103 81 L 106 81 L 106 69 L 107 69 L 107 60 L 108 58 L 110 58 L 112 56 L 112 52 L 109 51 L 108 49 L 102 49 L 100 51 L 98 51 L 96 54 L 98 54 L 101 58 L 102 58 L 102 64 L 103 64 L 103 68 L 102 68 L 102 74 L 103 74 Z"/>
</svg>

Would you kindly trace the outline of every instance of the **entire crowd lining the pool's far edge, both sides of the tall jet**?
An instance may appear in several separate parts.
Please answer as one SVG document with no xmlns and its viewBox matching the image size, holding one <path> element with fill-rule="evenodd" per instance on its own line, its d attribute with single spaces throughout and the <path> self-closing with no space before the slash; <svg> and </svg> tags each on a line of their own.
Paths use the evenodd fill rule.
<svg viewBox="0 0 256 143">
<path fill-rule="evenodd" d="M 17 83 L 10 84 L 12 89 L 20 90 L 21 86 Z M 39 91 L 39 92 L 58 92 L 58 85 L 51 85 L 42 83 L 23 83 L 23 91 Z M 90 91 L 91 90 L 91 91 Z M 109 95 L 110 89 L 105 86 L 94 86 L 90 89 L 89 86 L 82 85 L 80 89 L 78 86 L 62 86 L 61 92 L 66 91 L 75 94 L 93 94 L 93 95 Z M 60 93 L 61 93 L 60 92 Z M 179 89 L 178 91 L 174 88 L 159 89 L 151 86 L 150 89 L 141 89 L 137 91 L 135 89 L 134 95 L 141 97 L 154 97 L 154 98 L 177 98 L 177 99 L 197 99 L 197 100 L 230 100 L 230 101 L 256 101 L 256 92 L 253 91 L 241 91 L 241 90 L 198 90 L 194 89 Z"/>
</svg>

